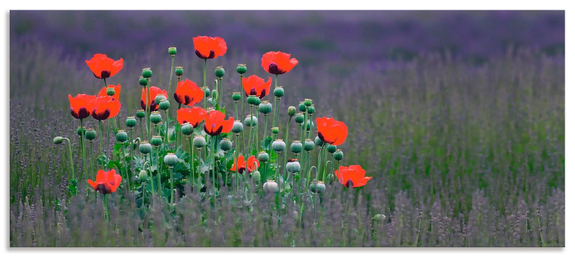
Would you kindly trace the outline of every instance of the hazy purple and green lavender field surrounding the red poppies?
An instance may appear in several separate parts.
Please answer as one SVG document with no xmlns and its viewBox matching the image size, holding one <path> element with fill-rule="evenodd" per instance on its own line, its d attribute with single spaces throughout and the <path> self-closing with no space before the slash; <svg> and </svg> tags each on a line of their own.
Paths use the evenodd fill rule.
<svg viewBox="0 0 575 257">
<path fill-rule="evenodd" d="M 11 11 L 10 246 L 564 247 L 564 14 Z M 294 121 L 283 135 L 287 108 L 313 99 L 314 117 L 347 125 L 341 165 L 361 164 L 373 178 L 356 188 L 326 183 L 322 194 L 297 205 L 273 204 L 277 198 L 258 197 L 256 186 L 241 193 L 222 186 L 217 197 L 214 187 L 208 198 L 208 179 L 201 194 L 178 184 L 173 204 L 150 194 L 147 208 L 129 186 L 108 194 L 106 206 L 85 180 L 71 193 L 69 179 L 92 178 L 92 163 L 78 150 L 80 123 L 67 95 L 102 88 L 85 60 L 95 53 L 124 59 L 108 82 L 121 84 L 117 120 L 127 129 L 126 117 L 140 109 L 142 68 L 152 68 L 155 86 L 168 88 L 168 47 L 178 49 L 182 79 L 202 83 L 192 43 L 198 35 L 227 43 L 225 55 L 208 60 L 208 85 L 217 79 L 212 68 L 224 66 L 218 92 L 231 113 L 238 63 L 267 79 L 273 76 L 260 65 L 263 53 L 296 57 L 278 82 L 285 90 L 280 135 L 297 139 Z M 167 113 L 173 117 L 175 108 Z M 98 128 L 98 121 L 83 125 Z M 73 171 L 68 143 L 54 144 L 56 136 L 70 139 Z M 86 147 L 98 151 L 103 141 L 117 153 L 116 137 L 105 138 Z M 320 149 L 310 151 L 311 164 Z"/>
</svg>

